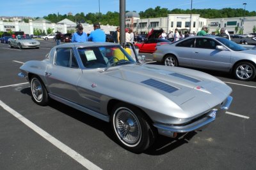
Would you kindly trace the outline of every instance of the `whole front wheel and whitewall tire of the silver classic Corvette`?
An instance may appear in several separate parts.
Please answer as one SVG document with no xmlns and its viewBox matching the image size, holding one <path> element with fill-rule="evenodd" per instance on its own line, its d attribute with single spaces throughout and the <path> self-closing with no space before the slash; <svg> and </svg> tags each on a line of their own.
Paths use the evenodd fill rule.
<svg viewBox="0 0 256 170">
<path fill-rule="evenodd" d="M 118 103 L 113 108 L 111 127 L 118 143 L 134 153 L 147 150 L 157 135 L 156 129 L 141 110 L 125 103 Z"/>
</svg>

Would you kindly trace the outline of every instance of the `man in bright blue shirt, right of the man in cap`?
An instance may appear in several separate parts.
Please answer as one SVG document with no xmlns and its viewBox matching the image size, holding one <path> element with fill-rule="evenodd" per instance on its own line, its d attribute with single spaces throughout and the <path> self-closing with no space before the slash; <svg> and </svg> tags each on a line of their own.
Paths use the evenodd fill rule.
<svg viewBox="0 0 256 170">
<path fill-rule="evenodd" d="M 88 41 L 94 42 L 106 42 L 106 34 L 100 29 L 100 24 L 98 22 L 93 24 L 93 29 L 88 37 Z"/>
</svg>

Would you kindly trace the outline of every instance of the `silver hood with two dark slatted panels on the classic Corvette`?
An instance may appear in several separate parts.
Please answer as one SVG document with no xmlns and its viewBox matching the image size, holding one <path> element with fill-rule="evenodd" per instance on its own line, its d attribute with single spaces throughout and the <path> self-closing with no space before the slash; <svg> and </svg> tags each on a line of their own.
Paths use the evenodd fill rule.
<svg viewBox="0 0 256 170">
<path fill-rule="evenodd" d="M 209 74 L 180 67 L 131 64 L 105 74 L 135 84 L 131 87 L 134 92 L 147 90 L 148 93 L 158 93 L 183 110 L 193 110 L 191 106 L 202 104 L 202 101 L 211 109 L 232 92 L 225 83 Z"/>
</svg>

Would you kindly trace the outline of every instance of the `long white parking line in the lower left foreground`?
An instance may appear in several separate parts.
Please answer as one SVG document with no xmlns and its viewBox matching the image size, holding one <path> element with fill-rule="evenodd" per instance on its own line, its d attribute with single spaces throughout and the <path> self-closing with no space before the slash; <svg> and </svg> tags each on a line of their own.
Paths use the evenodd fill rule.
<svg viewBox="0 0 256 170">
<path fill-rule="evenodd" d="M 100 167 L 98 167 L 95 164 L 93 164 L 92 162 L 90 162 L 90 160 L 84 158 L 82 155 L 80 155 L 76 151 L 72 150 L 72 148 L 68 147 L 64 143 L 61 143 L 61 141 L 59 141 L 58 139 L 56 139 L 53 136 L 51 136 L 51 134 L 45 132 L 43 129 L 38 127 L 36 124 L 31 122 L 27 118 L 23 117 L 22 115 L 20 115 L 20 113 L 18 113 L 17 111 L 13 110 L 9 106 L 7 106 L 1 100 L 0 100 L 0 106 L 2 106 L 4 108 L 4 110 L 8 111 L 14 117 L 18 118 L 22 123 L 27 125 L 30 129 L 32 129 L 37 134 L 42 136 L 44 139 L 46 139 L 47 141 L 52 143 L 52 145 L 56 146 L 62 152 L 66 153 L 68 156 L 70 156 L 72 159 L 74 159 L 77 162 L 79 162 L 79 164 L 81 164 L 82 166 L 86 167 L 87 169 L 101 169 Z"/>
</svg>

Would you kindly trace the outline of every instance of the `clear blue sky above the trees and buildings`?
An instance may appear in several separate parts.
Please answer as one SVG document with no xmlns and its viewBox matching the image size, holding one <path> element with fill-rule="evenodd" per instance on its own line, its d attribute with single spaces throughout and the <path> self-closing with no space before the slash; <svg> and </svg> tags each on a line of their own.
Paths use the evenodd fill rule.
<svg viewBox="0 0 256 170">
<path fill-rule="evenodd" d="M 44 17 L 51 13 L 65 15 L 71 12 L 73 15 L 83 12 L 106 14 L 108 11 L 119 12 L 119 3 L 122 0 L 19 0 L 1 2 L 0 16 L 5 17 Z M 243 8 L 247 11 L 255 11 L 255 0 L 192 0 L 193 8 L 212 8 L 220 10 L 222 8 Z M 145 11 L 148 8 L 167 8 L 173 10 L 180 8 L 187 10 L 191 8 L 191 0 L 164 1 L 164 0 L 126 0 L 125 11 Z"/>
</svg>

